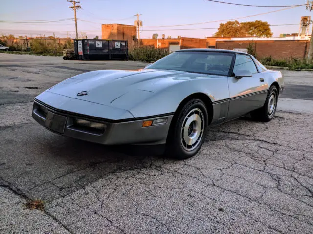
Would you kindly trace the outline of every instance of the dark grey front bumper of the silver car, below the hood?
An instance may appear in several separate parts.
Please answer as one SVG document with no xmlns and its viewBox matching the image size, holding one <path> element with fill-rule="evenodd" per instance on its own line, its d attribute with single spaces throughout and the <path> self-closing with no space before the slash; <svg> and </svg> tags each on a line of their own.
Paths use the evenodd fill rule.
<svg viewBox="0 0 313 234">
<path fill-rule="evenodd" d="M 64 119 L 65 124 L 62 130 L 54 131 L 49 127 L 48 122 L 52 122 L 49 116 L 56 115 Z M 95 143 L 114 145 L 114 144 L 163 144 L 166 142 L 167 133 L 173 115 L 162 117 L 147 117 L 145 119 L 134 119 L 127 121 L 106 120 L 96 117 L 84 116 L 77 113 L 66 112 L 55 109 L 45 103 L 34 101 L 32 117 L 48 130 L 64 135 Z M 154 120 L 158 118 L 168 118 L 167 123 L 142 127 L 142 122 L 146 120 Z M 95 131 L 91 128 L 81 128 L 75 125 L 75 119 L 82 119 L 105 125 L 103 131 Z"/>
</svg>

